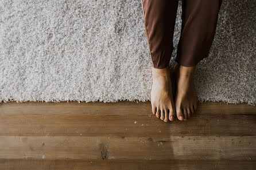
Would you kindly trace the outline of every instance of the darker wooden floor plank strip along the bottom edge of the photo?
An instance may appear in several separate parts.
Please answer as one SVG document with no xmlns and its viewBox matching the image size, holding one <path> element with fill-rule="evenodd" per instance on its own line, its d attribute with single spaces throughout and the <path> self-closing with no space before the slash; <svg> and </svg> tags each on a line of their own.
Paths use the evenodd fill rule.
<svg viewBox="0 0 256 170">
<path fill-rule="evenodd" d="M 24 160 L 0 159 L 0 170 L 253 170 L 256 161 L 248 160 Z"/>
</svg>

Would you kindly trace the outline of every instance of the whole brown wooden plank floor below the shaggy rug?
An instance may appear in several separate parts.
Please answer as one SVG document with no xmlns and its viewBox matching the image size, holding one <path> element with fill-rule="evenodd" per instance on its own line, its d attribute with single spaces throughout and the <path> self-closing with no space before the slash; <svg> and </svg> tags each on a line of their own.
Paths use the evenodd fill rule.
<svg viewBox="0 0 256 170">
<path fill-rule="evenodd" d="M 2 102 L 0 169 L 256 169 L 256 107 L 165 123 L 150 102 Z"/>
</svg>

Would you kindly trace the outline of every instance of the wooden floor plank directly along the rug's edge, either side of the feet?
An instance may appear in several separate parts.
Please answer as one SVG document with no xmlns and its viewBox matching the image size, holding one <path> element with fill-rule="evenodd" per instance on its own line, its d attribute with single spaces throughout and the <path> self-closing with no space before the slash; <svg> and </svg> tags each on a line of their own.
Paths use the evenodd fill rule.
<svg viewBox="0 0 256 170">
<path fill-rule="evenodd" d="M 199 104 L 198 114 L 256 114 L 256 107 L 247 104 L 226 104 L 223 102 L 204 102 Z M 127 115 L 152 114 L 150 101 L 147 102 L 2 102 L 3 114 L 92 114 Z"/>
</svg>

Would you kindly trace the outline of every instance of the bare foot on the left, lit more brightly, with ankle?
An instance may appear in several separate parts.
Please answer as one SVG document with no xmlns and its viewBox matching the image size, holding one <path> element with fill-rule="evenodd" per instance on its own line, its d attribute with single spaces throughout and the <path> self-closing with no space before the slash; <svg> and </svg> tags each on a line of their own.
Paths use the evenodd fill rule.
<svg viewBox="0 0 256 170">
<path fill-rule="evenodd" d="M 152 68 L 153 85 L 151 89 L 152 112 L 156 117 L 168 122 L 175 117 L 175 108 L 170 81 L 170 67 L 164 69 Z"/>
</svg>

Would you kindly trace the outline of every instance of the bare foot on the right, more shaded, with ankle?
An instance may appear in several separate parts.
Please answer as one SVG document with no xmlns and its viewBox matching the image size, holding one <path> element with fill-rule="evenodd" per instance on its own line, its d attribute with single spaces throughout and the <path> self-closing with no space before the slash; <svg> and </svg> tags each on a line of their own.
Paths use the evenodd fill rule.
<svg viewBox="0 0 256 170">
<path fill-rule="evenodd" d="M 174 77 L 176 80 L 175 108 L 179 120 L 188 120 L 197 107 L 197 97 L 193 88 L 193 74 L 196 70 L 194 67 L 184 67 L 175 64 L 173 67 Z"/>
</svg>

